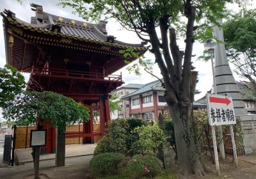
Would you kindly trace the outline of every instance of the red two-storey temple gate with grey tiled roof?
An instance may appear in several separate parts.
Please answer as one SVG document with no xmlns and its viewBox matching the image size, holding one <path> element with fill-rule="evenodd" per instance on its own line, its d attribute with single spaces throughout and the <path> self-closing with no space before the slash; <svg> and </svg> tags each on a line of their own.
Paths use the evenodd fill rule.
<svg viewBox="0 0 256 179">
<path fill-rule="evenodd" d="M 90 109 L 90 121 L 83 131 L 68 132 L 66 137 L 83 137 L 83 143 L 93 143 L 94 136 L 104 136 L 106 121 L 110 120 L 109 92 L 121 86 L 122 74 L 111 75 L 124 67 L 120 50 L 132 48 L 141 56 L 147 48 L 115 40 L 106 31 L 107 22 L 90 24 L 44 12 L 42 6 L 31 4 L 35 17 L 24 22 L 10 10 L 4 10 L 6 63 L 20 72 L 31 74 L 28 91 L 54 91 L 73 98 Z M 93 131 L 93 111 L 99 111 L 100 132 Z M 55 152 L 56 130 L 49 121 L 47 146 L 44 153 Z"/>
</svg>

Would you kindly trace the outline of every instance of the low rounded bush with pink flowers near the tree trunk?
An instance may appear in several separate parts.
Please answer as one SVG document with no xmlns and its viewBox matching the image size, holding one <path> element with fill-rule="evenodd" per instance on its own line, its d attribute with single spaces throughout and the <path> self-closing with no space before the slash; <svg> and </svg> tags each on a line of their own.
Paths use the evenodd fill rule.
<svg viewBox="0 0 256 179">
<path fill-rule="evenodd" d="M 127 169 L 133 175 L 132 178 L 152 178 L 162 171 L 163 164 L 153 155 L 134 155 L 129 160 Z"/>
</svg>

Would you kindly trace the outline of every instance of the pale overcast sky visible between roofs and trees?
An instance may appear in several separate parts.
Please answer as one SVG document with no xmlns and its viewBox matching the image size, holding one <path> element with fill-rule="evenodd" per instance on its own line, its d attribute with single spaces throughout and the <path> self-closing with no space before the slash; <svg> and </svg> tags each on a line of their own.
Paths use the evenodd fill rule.
<svg viewBox="0 0 256 179">
<path fill-rule="evenodd" d="M 44 12 L 52 13 L 54 15 L 59 15 L 61 17 L 68 17 L 74 20 L 82 20 L 77 15 L 72 14 L 71 8 L 62 8 L 61 6 L 57 6 L 58 0 L 35 0 L 35 1 L 28 1 L 24 0 L 22 5 L 17 3 L 16 0 L 0 0 L 0 11 L 3 12 L 4 9 L 11 10 L 16 14 L 16 17 L 22 19 L 26 22 L 30 22 L 31 16 L 35 16 L 35 12 L 31 11 L 31 7 L 29 3 L 40 4 L 43 6 Z M 237 6 L 230 5 L 230 8 L 233 10 L 237 10 Z M 253 3 L 248 8 L 256 8 L 256 0 L 253 0 Z M 2 19 L 2 17 L 0 17 Z M 2 20 L 1 20 L 2 22 Z M 135 33 L 131 31 L 125 31 L 120 28 L 118 23 L 115 20 L 108 20 L 107 24 L 107 31 L 108 35 L 116 36 L 117 40 L 127 43 L 140 43 L 141 40 L 135 35 Z M 180 47 L 182 48 L 184 44 L 180 43 Z M 204 62 L 204 61 L 196 61 L 198 56 L 202 55 L 204 51 L 204 45 L 201 43 L 195 43 L 193 46 L 193 54 L 196 56 L 193 58 L 194 66 L 196 67 L 199 73 L 198 76 L 198 84 L 196 85 L 196 89 L 202 91 L 199 95 L 196 95 L 196 99 L 203 97 L 207 90 L 211 89 L 212 86 L 212 73 L 211 73 L 211 63 Z M 147 59 L 154 59 L 154 56 L 147 52 L 145 54 Z M 4 45 L 4 35 L 3 35 L 3 26 L 0 26 L 0 67 L 3 67 L 6 63 L 6 56 L 5 56 L 5 45 Z M 232 67 L 232 66 L 231 66 Z M 125 67 L 126 68 L 126 67 Z M 118 70 L 115 74 L 120 74 L 122 71 L 122 76 L 124 82 L 127 83 L 139 83 L 145 84 L 147 82 L 151 82 L 156 80 L 156 78 L 151 77 L 146 72 L 143 73 L 141 76 L 136 76 L 134 74 L 129 74 L 127 70 L 123 68 L 122 70 Z M 154 74 L 161 77 L 159 68 L 155 66 Z M 25 75 L 26 79 L 28 79 L 28 74 Z M 235 75 L 236 80 L 238 81 L 238 77 Z"/>
</svg>

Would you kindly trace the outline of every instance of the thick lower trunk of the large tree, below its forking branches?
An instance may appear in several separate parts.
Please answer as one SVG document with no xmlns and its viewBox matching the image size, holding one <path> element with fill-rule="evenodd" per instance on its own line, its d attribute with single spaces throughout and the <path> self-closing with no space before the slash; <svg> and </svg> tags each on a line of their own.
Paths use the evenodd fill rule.
<svg viewBox="0 0 256 179">
<path fill-rule="evenodd" d="M 182 103 L 169 106 L 175 130 L 175 142 L 181 175 L 204 176 L 204 164 L 197 143 L 192 105 Z"/>
</svg>

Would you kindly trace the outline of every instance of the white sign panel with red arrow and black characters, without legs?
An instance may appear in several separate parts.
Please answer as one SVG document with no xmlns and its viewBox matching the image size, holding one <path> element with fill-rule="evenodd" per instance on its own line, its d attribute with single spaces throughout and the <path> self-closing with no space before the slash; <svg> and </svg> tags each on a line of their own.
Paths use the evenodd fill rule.
<svg viewBox="0 0 256 179">
<path fill-rule="evenodd" d="M 207 94 L 207 108 L 210 125 L 230 125 L 236 123 L 231 97 Z"/>
</svg>

